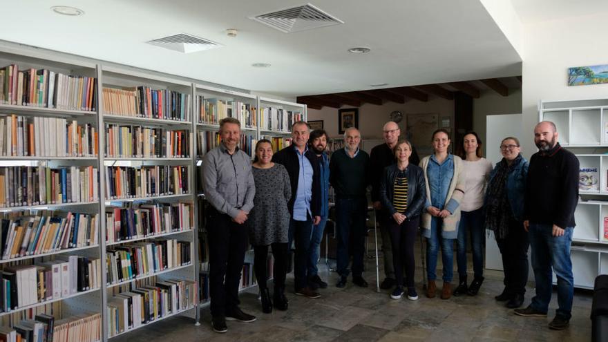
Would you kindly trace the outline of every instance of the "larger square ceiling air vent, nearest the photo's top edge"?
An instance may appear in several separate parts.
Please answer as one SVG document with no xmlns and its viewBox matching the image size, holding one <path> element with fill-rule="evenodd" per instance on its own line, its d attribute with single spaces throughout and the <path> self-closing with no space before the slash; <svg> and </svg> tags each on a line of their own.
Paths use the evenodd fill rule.
<svg viewBox="0 0 608 342">
<path fill-rule="evenodd" d="M 310 3 L 303 6 L 265 13 L 263 15 L 256 15 L 255 17 L 249 17 L 249 19 L 254 19 L 255 21 L 259 21 L 264 25 L 276 28 L 285 33 L 344 23 L 344 21 L 323 12 Z"/>
</svg>

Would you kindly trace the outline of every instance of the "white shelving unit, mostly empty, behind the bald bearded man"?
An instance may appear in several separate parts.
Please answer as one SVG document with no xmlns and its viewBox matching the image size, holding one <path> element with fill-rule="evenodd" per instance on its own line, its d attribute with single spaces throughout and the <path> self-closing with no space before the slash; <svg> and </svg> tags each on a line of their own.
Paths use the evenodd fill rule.
<svg viewBox="0 0 608 342">
<path fill-rule="evenodd" d="M 593 289 L 596 276 L 608 272 L 608 99 L 541 101 L 538 111 L 580 163 L 571 258 L 574 286 Z"/>
</svg>

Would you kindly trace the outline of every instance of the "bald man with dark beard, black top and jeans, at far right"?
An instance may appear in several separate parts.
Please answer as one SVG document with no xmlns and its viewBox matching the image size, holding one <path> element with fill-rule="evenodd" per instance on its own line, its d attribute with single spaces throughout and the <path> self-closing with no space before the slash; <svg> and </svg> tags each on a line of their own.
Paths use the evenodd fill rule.
<svg viewBox="0 0 608 342">
<path fill-rule="evenodd" d="M 553 267 L 558 278 L 558 310 L 549 328 L 562 330 L 569 324 L 574 296 L 570 245 L 576 225 L 579 163 L 573 153 L 558 143 L 553 122 L 543 121 L 535 126 L 534 142 L 539 151 L 530 159 L 524 229 L 530 238 L 536 295 L 528 307 L 515 310 L 515 314 L 547 316 Z"/>
</svg>

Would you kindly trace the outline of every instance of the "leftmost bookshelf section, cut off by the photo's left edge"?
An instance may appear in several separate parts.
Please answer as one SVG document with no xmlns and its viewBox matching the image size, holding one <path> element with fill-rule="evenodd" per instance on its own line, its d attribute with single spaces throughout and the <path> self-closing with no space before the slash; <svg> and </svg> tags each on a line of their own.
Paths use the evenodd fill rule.
<svg viewBox="0 0 608 342">
<path fill-rule="evenodd" d="M 0 68 L 0 269 L 17 294 L 9 303 L 3 292 L 0 325 L 21 329 L 45 313 L 59 334 L 66 319 L 84 315 L 77 325 L 92 327 L 86 341 L 98 341 L 97 66 L 3 48 Z"/>
</svg>

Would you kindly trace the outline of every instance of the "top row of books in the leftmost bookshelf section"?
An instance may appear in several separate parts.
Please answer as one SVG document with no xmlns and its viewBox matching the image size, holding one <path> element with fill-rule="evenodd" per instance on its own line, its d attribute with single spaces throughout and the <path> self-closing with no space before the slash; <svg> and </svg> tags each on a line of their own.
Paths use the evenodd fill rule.
<svg viewBox="0 0 608 342">
<path fill-rule="evenodd" d="M 97 79 L 10 64 L 0 69 L 0 103 L 95 111 Z"/>
</svg>

